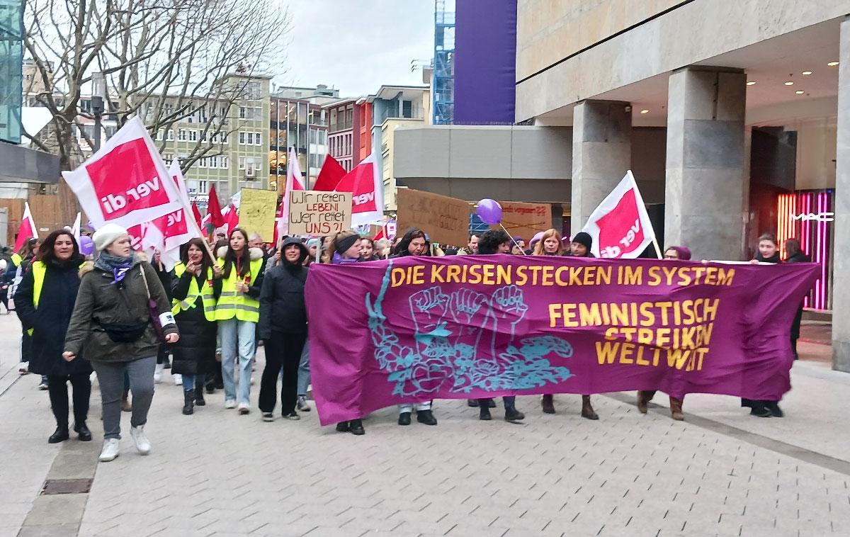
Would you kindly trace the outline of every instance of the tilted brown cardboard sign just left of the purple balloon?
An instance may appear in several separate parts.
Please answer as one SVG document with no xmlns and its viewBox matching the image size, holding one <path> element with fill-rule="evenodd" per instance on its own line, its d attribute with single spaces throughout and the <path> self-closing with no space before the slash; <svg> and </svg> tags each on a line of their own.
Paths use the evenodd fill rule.
<svg viewBox="0 0 850 537">
<path fill-rule="evenodd" d="M 470 205 L 445 195 L 399 189 L 396 195 L 399 234 L 419 228 L 431 242 L 462 246 L 469 240 Z"/>
</svg>

